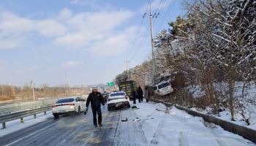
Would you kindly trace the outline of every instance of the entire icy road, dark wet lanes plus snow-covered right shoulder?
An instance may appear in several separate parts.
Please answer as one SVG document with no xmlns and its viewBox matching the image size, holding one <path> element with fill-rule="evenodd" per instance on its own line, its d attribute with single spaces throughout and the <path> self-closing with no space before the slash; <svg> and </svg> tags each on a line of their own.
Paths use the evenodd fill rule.
<svg viewBox="0 0 256 146">
<path fill-rule="evenodd" d="M 140 109 L 113 112 L 102 109 L 102 128 L 94 128 L 91 111 L 86 116 L 48 118 L 1 137 L 0 145 L 255 145 L 174 107 L 146 103 L 137 106 Z"/>
</svg>

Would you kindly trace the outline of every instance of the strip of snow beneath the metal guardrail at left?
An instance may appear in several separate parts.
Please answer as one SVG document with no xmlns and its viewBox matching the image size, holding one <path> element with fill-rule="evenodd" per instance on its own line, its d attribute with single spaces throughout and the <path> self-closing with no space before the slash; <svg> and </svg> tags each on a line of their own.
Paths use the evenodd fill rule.
<svg viewBox="0 0 256 146">
<path fill-rule="evenodd" d="M 19 131 L 23 128 L 27 128 L 29 126 L 32 126 L 34 124 L 40 123 L 42 121 L 48 120 L 48 118 L 53 118 L 52 111 L 46 112 L 46 115 L 44 113 L 37 114 L 37 118 L 34 118 L 34 115 L 31 115 L 29 117 L 23 118 L 24 123 L 20 123 L 20 119 L 12 120 L 10 122 L 6 123 L 7 128 L 0 129 L 0 137 L 4 137 L 7 134 L 12 134 L 15 131 Z"/>
</svg>

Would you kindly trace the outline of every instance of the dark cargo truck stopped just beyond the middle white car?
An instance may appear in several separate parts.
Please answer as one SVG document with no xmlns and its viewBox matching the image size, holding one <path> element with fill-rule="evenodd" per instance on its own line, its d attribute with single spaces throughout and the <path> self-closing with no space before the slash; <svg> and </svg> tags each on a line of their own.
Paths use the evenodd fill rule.
<svg viewBox="0 0 256 146">
<path fill-rule="evenodd" d="M 124 91 L 130 98 L 132 98 L 132 91 L 137 91 L 137 83 L 134 80 L 120 82 L 118 87 L 119 91 Z"/>
</svg>

